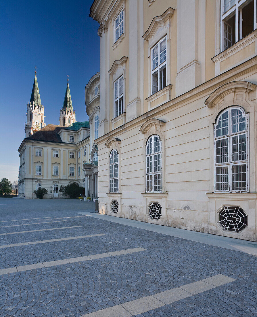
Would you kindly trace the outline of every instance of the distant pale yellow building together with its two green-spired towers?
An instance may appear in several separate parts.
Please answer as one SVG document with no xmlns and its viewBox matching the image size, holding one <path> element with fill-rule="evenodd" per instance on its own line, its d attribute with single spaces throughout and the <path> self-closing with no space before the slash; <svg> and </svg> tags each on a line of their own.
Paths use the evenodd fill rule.
<svg viewBox="0 0 257 317">
<path fill-rule="evenodd" d="M 35 198 L 33 191 L 40 188 L 48 190 L 44 198 L 62 197 L 61 185 L 76 182 L 84 186 L 83 164 L 90 160 L 89 131 L 88 121 L 76 122 L 69 82 L 60 111 L 60 125 L 45 126 L 35 74 L 27 106 L 26 137 L 18 149 L 19 197 Z"/>
</svg>

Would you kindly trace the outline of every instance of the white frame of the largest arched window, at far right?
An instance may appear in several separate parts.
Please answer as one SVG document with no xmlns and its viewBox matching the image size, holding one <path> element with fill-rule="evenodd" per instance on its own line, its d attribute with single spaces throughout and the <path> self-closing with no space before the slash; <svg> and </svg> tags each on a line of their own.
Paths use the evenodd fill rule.
<svg viewBox="0 0 257 317">
<path fill-rule="evenodd" d="M 245 126 L 246 129 L 239 131 L 239 132 L 235 132 L 232 133 L 232 125 L 231 125 L 231 113 L 233 109 L 237 109 L 239 111 L 242 112 L 243 117 L 245 118 Z M 220 117 L 228 111 L 228 134 L 225 135 L 221 135 L 216 137 L 216 126 L 218 125 L 218 121 L 220 119 Z M 248 192 L 249 191 L 249 126 L 248 126 L 248 122 L 249 122 L 249 117 L 248 114 L 244 112 L 244 110 L 241 107 L 237 107 L 237 106 L 232 106 L 229 108 L 226 108 L 225 110 L 223 110 L 217 117 L 217 120 L 214 124 L 214 190 L 215 192 Z M 222 127 L 224 126 L 224 124 L 222 125 Z M 233 161 L 232 160 L 232 138 L 235 136 L 241 136 L 244 135 L 246 136 L 246 159 L 245 160 L 237 160 L 237 161 Z M 225 155 L 228 155 L 228 162 L 224 162 L 224 163 L 217 163 L 217 141 L 219 140 L 225 140 L 228 139 L 228 154 L 226 153 Z M 223 153 L 221 154 L 223 155 Z M 246 189 L 236 189 L 233 190 L 232 189 L 232 166 L 239 166 L 239 165 L 246 165 Z M 228 168 L 228 190 L 217 190 L 217 168 Z M 222 174 L 220 174 L 222 175 Z M 225 174 L 227 175 L 227 174 Z"/>
</svg>

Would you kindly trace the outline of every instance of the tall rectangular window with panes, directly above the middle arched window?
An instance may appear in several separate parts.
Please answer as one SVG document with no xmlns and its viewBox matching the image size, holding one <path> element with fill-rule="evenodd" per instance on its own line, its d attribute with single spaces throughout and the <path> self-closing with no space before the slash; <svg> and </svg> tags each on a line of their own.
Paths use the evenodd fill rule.
<svg viewBox="0 0 257 317">
<path fill-rule="evenodd" d="M 151 49 L 152 94 L 167 86 L 166 37 Z"/>
</svg>

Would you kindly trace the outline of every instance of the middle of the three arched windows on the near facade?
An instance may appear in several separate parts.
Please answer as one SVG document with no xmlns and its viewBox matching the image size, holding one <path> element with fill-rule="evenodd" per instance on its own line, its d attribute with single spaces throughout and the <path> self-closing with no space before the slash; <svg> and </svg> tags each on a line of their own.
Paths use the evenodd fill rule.
<svg viewBox="0 0 257 317">
<path fill-rule="evenodd" d="M 146 192 L 162 191 L 162 141 L 152 135 L 146 144 Z"/>
</svg>

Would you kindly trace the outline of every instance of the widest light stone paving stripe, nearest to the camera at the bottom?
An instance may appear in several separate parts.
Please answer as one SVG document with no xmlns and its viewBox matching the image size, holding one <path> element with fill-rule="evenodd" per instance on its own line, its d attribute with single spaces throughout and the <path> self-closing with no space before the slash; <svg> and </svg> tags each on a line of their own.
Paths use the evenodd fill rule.
<svg viewBox="0 0 257 317">
<path fill-rule="evenodd" d="M 206 290 L 236 281 L 235 279 L 218 274 L 201 281 L 186 284 L 177 288 L 169 289 L 155 295 L 142 297 L 134 301 L 98 310 L 94 313 L 85 314 L 81 317 L 127 317 L 143 314 L 183 298 L 205 292 Z"/>
</svg>

